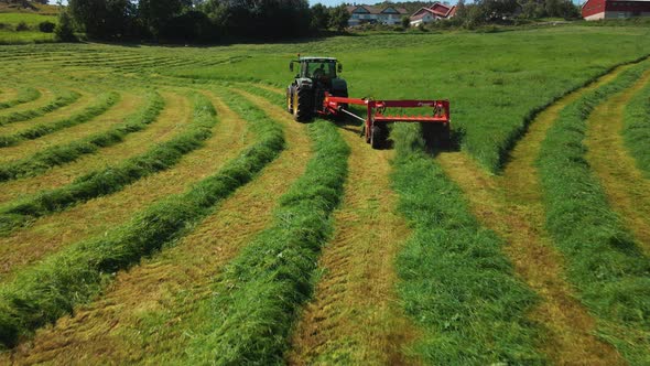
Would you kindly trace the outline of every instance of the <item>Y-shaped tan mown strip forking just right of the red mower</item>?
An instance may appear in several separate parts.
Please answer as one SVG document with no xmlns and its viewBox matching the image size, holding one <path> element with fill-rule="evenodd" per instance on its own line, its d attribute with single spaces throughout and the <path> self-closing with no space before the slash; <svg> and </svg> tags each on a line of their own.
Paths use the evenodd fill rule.
<svg viewBox="0 0 650 366">
<path fill-rule="evenodd" d="M 463 152 L 437 157 L 445 173 L 468 197 L 483 225 L 507 240 L 503 250 L 518 276 L 541 297 L 530 316 L 545 327 L 548 334 L 540 348 L 555 364 L 625 364 L 614 347 L 596 338 L 595 320 L 574 298 L 572 287 L 565 281 L 563 257 L 544 232 L 542 190 L 535 168 L 540 144 L 559 112 L 582 93 L 614 79 L 624 68 L 617 68 L 540 112 L 512 150 L 502 176 L 490 176 Z"/>
</svg>

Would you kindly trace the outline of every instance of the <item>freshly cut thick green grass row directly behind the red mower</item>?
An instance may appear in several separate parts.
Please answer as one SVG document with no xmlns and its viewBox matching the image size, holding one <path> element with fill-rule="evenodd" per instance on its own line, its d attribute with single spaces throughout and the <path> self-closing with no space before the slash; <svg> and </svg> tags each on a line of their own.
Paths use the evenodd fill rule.
<svg viewBox="0 0 650 366">
<path fill-rule="evenodd" d="M 434 365 L 544 364 L 527 320 L 537 297 L 514 276 L 503 241 L 423 152 L 419 126 L 396 125 L 393 134 L 393 187 L 413 233 L 398 256 L 398 291 L 422 330 L 411 352 Z"/>
</svg>

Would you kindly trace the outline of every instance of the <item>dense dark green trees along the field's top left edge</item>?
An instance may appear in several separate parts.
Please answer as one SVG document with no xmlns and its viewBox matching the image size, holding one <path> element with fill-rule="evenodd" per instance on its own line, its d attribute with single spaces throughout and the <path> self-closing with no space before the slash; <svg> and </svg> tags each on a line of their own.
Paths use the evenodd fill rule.
<svg viewBox="0 0 650 366">
<path fill-rule="evenodd" d="M 210 43 L 343 30 L 349 19 L 345 6 L 307 0 L 69 0 L 61 17 L 62 39 L 76 30 L 97 40 Z"/>
</svg>

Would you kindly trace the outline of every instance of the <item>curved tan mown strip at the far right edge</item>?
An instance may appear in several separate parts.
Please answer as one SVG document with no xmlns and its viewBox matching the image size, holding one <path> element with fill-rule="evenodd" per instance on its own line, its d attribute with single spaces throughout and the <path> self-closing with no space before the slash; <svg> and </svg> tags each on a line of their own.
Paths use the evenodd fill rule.
<svg viewBox="0 0 650 366">
<path fill-rule="evenodd" d="M 637 168 L 621 136 L 625 107 L 650 82 L 650 72 L 629 89 L 596 107 L 587 120 L 587 161 L 600 179 L 611 207 L 642 250 L 650 255 L 650 180 Z"/>
</svg>

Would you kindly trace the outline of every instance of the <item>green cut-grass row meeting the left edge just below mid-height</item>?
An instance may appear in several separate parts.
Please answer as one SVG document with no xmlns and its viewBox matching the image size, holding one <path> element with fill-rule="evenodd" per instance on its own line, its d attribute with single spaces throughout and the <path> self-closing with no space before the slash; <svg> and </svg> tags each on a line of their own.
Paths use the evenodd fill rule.
<svg viewBox="0 0 650 366">
<path fill-rule="evenodd" d="M 205 98 L 197 98 L 192 125 L 181 134 L 154 146 L 141 155 L 83 175 L 61 189 L 45 191 L 0 208 L 0 235 L 6 235 L 36 217 L 112 194 L 140 179 L 174 166 L 185 154 L 203 147 L 205 140 L 212 137 L 216 120 L 205 117 L 208 106 L 209 101 Z"/>
</svg>

